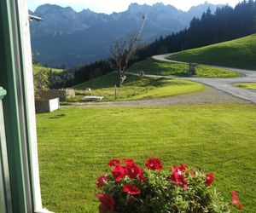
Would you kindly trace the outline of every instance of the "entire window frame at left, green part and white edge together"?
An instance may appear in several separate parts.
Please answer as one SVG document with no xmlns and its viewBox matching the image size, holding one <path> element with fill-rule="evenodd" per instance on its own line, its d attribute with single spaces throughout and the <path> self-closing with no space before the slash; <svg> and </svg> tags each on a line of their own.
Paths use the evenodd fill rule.
<svg viewBox="0 0 256 213">
<path fill-rule="evenodd" d="M 2 0 L 0 26 L 0 85 L 7 90 L 3 118 L 10 182 L 5 197 L 11 197 L 6 212 L 49 212 L 42 208 L 40 192 L 26 0 Z"/>
</svg>

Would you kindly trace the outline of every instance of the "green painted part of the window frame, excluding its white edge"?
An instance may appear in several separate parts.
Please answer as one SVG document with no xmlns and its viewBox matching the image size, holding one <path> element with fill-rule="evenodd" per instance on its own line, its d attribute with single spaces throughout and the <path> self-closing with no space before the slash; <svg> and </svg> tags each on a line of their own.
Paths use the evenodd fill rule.
<svg viewBox="0 0 256 213">
<path fill-rule="evenodd" d="M 26 96 L 24 45 L 21 40 L 18 0 L 0 3 L 0 86 L 7 90 L 3 98 L 3 119 L 9 168 L 11 202 L 6 212 L 35 212 L 33 200 L 30 126 Z M 1 122 L 1 121 L 0 121 Z M 2 122 L 3 123 L 3 122 Z M 6 164 L 6 163 L 5 163 Z M 10 193 L 10 194 L 8 194 Z M 11 206 L 9 206 L 11 204 Z"/>
</svg>

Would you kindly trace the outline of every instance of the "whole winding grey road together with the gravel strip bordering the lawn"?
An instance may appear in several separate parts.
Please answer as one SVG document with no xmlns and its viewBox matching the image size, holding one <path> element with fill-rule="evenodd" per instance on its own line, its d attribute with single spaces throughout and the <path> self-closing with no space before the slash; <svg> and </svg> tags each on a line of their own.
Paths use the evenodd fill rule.
<svg viewBox="0 0 256 213">
<path fill-rule="evenodd" d="M 170 54 L 169 54 L 170 55 Z M 154 55 L 155 60 L 172 61 L 184 63 L 175 60 L 167 60 L 167 55 Z M 185 63 L 187 64 L 187 63 Z M 181 78 L 207 85 L 207 89 L 185 95 L 174 95 L 165 98 L 139 100 L 139 101 L 109 101 L 109 102 L 86 102 L 72 103 L 62 107 L 154 107 L 168 105 L 191 105 L 191 104 L 210 104 L 210 103 L 256 103 L 256 92 L 250 89 L 241 89 L 232 85 L 232 83 L 256 83 L 256 71 L 241 70 L 230 67 L 215 66 L 219 68 L 230 69 L 241 72 L 239 78 Z M 130 73 L 137 75 L 135 73 Z M 174 76 L 145 75 L 153 78 L 178 78 Z"/>
</svg>

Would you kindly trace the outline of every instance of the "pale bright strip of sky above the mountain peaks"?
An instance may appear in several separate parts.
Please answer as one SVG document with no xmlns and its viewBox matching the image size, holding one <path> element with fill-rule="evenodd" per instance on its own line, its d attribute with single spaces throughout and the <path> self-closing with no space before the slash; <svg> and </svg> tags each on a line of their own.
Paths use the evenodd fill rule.
<svg viewBox="0 0 256 213">
<path fill-rule="evenodd" d="M 97 13 L 111 14 L 113 12 L 121 12 L 128 9 L 131 3 L 147 3 L 152 5 L 154 3 L 172 4 L 177 9 L 188 11 L 192 6 L 205 3 L 206 0 L 27 0 L 28 9 L 34 11 L 39 5 L 44 3 L 57 4 L 62 7 L 70 6 L 76 11 L 82 9 L 90 9 Z M 241 0 L 207 0 L 208 3 L 222 3 L 235 6 Z"/>
</svg>

